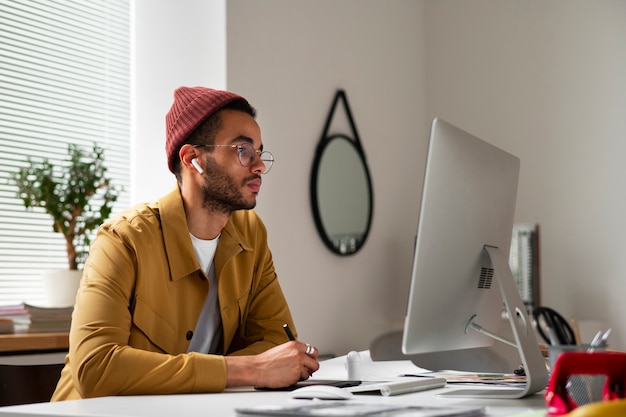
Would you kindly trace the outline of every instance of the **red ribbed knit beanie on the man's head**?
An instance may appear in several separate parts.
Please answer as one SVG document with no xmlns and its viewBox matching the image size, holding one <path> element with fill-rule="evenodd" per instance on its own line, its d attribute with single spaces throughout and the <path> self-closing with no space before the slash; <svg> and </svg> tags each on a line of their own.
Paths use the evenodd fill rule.
<svg viewBox="0 0 626 417">
<path fill-rule="evenodd" d="M 230 91 L 206 87 L 179 87 L 174 91 L 174 103 L 165 115 L 165 152 L 170 171 L 174 172 L 174 161 L 178 158 L 180 147 L 200 123 L 236 100 L 246 101 Z"/>
</svg>

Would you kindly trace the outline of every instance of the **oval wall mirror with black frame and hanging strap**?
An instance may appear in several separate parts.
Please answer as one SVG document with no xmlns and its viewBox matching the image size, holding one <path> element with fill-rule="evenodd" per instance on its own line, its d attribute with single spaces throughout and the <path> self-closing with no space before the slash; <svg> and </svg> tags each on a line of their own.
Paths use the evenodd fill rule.
<svg viewBox="0 0 626 417">
<path fill-rule="evenodd" d="M 328 134 L 338 101 L 343 99 L 352 135 Z M 369 234 L 373 193 L 365 154 L 347 104 L 337 92 L 311 174 L 311 202 L 317 230 L 324 244 L 337 255 L 352 255 Z"/>
</svg>

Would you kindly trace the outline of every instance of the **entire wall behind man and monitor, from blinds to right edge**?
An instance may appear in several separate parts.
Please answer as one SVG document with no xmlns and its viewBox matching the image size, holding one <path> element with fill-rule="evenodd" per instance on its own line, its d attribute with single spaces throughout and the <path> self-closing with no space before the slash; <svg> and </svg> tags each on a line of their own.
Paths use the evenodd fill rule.
<svg viewBox="0 0 626 417">
<path fill-rule="evenodd" d="M 541 223 L 544 304 L 605 320 L 612 346 L 626 347 L 626 3 L 228 0 L 214 13 L 202 0 L 136 2 L 138 22 L 148 19 L 137 36 L 137 198 L 174 184 L 163 148 L 172 90 L 223 87 L 225 68 L 277 159 L 257 210 L 303 340 L 342 354 L 399 328 L 429 121 L 439 115 L 521 157 L 517 219 Z M 223 32 L 212 32 L 222 7 Z M 351 257 L 328 252 L 309 202 L 337 88 L 375 197 L 370 237 Z"/>
</svg>

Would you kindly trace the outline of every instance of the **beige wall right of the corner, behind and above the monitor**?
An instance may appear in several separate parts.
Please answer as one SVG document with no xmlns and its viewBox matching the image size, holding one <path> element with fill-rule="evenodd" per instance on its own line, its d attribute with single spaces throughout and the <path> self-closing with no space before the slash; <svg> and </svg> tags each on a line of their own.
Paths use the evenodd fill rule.
<svg viewBox="0 0 626 417">
<path fill-rule="evenodd" d="M 521 158 L 543 304 L 625 348 L 626 2 L 440 0 L 425 17 L 428 118 Z"/>
</svg>

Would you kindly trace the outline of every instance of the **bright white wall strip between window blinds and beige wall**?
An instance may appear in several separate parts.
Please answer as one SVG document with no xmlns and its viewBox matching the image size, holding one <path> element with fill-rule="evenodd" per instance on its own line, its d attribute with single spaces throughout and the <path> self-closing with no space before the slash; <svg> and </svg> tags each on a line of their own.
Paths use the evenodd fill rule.
<svg viewBox="0 0 626 417">
<path fill-rule="evenodd" d="M 134 0 L 131 202 L 176 184 L 165 157 L 165 114 L 180 86 L 226 87 L 225 0 Z"/>
</svg>

